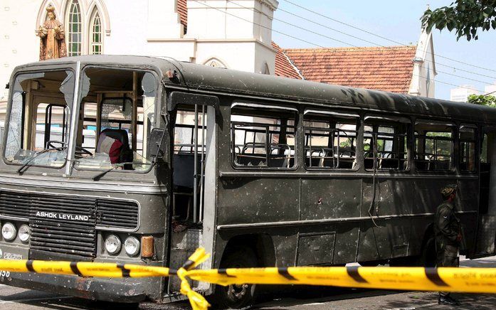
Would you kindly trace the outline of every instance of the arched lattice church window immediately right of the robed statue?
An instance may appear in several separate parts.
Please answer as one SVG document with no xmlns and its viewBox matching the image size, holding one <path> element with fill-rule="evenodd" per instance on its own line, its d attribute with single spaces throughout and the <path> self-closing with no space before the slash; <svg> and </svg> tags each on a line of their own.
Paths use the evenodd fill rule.
<svg viewBox="0 0 496 310">
<path fill-rule="evenodd" d="M 78 0 L 72 0 L 69 4 L 67 18 L 67 43 L 68 55 L 78 56 L 81 55 L 81 45 L 83 43 L 83 18 L 81 16 L 81 8 Z"/>
</svg>

